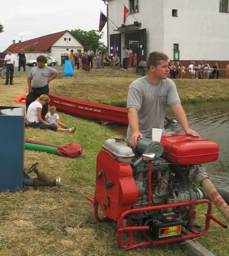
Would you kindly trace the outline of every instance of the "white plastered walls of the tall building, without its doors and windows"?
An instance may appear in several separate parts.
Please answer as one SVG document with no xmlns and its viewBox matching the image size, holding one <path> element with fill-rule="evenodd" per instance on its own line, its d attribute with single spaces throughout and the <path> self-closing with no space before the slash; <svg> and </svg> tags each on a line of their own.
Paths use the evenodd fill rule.
<svg viewBox="0 0 229 256">
<path fill-rule="evenodd" d="M 123 4 L 129 7 L 128 0 L 108 1 L 108 17 L 118 27 Z M 178 17 L 172 17 L 172 9 Z M 219 0 L 139 0 L 139 12 L 133 15 L 142 24 L 139 29 L 146 28 L 147 55 L 157 50 L 173 59 L 173 44 L 179 44 L 180 60 L 229 60 L 229 13 L 219 12 Z M 133 24 L 133 15 L 126 25 Z M 110 21 L 108 25 L 109 34 L 117 33 Z"/>
</svg>

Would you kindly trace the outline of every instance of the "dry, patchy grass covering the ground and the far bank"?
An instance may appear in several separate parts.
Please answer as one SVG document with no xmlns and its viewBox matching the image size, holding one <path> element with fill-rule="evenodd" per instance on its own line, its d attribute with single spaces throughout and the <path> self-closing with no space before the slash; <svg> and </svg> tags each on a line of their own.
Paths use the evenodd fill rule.
<svg viewBox="0 0 229 256">
<path fill-rule="evenodd" d="M 55 79 L 50 93 L 125 106 L 128 87 L 140 75 L 134 70 L 75 71 L 75 78 Z M 25 106 L 14 102 L 27 94 L 27 72 L 14 76 L 13 86 L 0 85 L 1 106 Z M 2 84 L 5 82 L 0 80 Z M 183 102 L 229 99 L 226 79 L 176 79 Z M 23 192 L 0 193 L 0 256 L 186 256 L 178 244 L 164 244 L 136 250 L 120 250 L 116 244 L 116 224 L 98 224 L 93 206 L 86 196 L 93 198 L 95 190 L 96 156 L 108 138 L 119 135 L 92 120 L 60 113 L 68 126 L 76 125 L 73 134 L 26 128 L 25 137 L 58 145 L 75 142 L 83 146 L 81 157 L 70 159 L 45 152 L 25 150 L 24 168 L 39 162 L 38 170 L 50 177 L 61 177 L 61 188 L 26 187 Z M 2 132 L 2 131 L 1 131 Z M 7 170 L 1 170 L 7 171 Z M 36 175 L 31 173 L 31 177 Z M 217 209 L 213 212 L 224 221 Z M 68 227 L 84 221 L 84 227 Z M 204 211 L 200 207 L 197 224 L 203 225 Z M 217 256 L 229 255 L 229 232 L 211 222 L 209 232 L 197 239 Z"/>
</svg>

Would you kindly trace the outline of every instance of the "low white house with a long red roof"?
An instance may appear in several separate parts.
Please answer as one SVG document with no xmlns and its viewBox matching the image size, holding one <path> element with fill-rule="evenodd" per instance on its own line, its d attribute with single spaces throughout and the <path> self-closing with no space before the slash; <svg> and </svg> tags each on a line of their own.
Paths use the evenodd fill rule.
<svg viewBox="0 0 229 256">
<path fill-rule="evenodd" d="M 4 53 L 7 53 L 8 49 L 12 50 L 13 55 L 16 57 L 16 66 L 18 64 L 17 54 L 20 52 L 20 49 L 23 49 L 26 55 L 26 62 L 36 59 L 39 55 L 51 55 L 56 59 L 58 64 L 61 64 L 61 61 L 63 63 L 64 52 L 67 48 L 69 48 L 69 51 L 73 49 L 75 52 L 77 49 L 83 51 L 84 46 L 71 32 L 64 30 L 23 42 L 19 41 L 18 43 L 15 43 L 15 40 L 13 40 L 13 44 L 7 47 Z"/>
</svg>

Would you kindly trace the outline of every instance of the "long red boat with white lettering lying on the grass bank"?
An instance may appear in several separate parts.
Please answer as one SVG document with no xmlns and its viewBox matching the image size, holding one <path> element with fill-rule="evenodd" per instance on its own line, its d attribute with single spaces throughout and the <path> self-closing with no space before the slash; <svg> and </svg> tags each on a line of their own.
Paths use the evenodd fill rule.
<svg viewBox="0 0 229 256">
<path fill-rule="evenodd" d="M 50 93 L 49 98 L 49 105 L 55 105 L 59 111 L 64 113 L 124 125 L 129 123 L 128 111 L 125 108 L 70 99 Z"/>
</svg>

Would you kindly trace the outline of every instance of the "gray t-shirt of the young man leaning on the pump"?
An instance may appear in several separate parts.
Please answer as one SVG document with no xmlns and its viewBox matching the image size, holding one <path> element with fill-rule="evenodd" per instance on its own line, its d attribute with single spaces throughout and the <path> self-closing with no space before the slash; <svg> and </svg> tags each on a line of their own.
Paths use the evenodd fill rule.
<svg viewBox="0 0 229 256">
<path fill-rule="evenodd" d="M 127 99 L 127 109 L 138 110 L 139 131 L 143 137 L 152 139 L 152 128 L 164 130 L 166 105 L 170 107 L 180 103 L 177 88 L 171 79 L 161 80 L 152 84 L 147 76 L 139 78 L 130 84 Z M 127 140 L 132 135 L 130 125 L 127 130 Z"/>
</svg>

